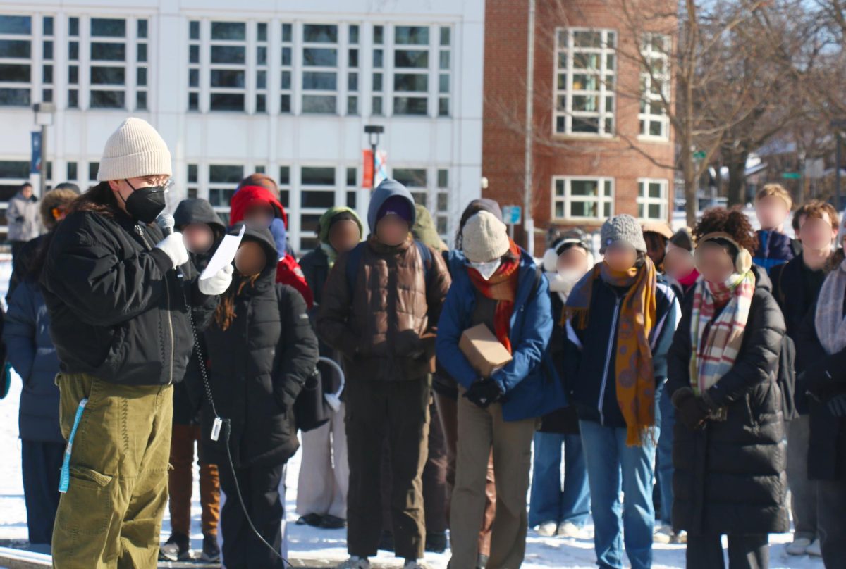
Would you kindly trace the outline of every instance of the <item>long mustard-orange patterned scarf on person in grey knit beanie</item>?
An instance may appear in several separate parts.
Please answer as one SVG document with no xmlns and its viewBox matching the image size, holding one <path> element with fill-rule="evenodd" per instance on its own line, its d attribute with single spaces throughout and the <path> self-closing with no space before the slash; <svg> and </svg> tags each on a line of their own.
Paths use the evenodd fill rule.
<svg viewBox="0 0 846 569">
<path fill-rule="evenodd" d="M 617 404 L 626 421 L 626 445 L 643 446 L 649 428 L 655 424 L 655 369 L 649 336 L 656 325 L 657 274 L 649 257 L 640 269 L 611 271 L 598 263 L 570 293 L 564 314 L 574 328 L 587 327 L 591 309 L 591 290 L 599 276 L 609 285 L 629 286 L 620 305 L 617 327 L 617 353 L 614 375 L 617 378 Z"/>
</svg>

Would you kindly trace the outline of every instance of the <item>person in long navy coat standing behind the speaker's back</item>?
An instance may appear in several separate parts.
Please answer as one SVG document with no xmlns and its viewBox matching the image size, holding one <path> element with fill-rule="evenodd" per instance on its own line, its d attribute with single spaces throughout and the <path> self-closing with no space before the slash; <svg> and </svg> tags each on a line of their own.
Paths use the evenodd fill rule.
<svg viewBox="0 0 846 569">
<path fill-rule="evenodd" d="M 77 197 L 72 189 L 53 189 L 41 200 L 41 222 L 50 230 L 25 244 L 26 271 L 8 299 L 3 342 L 8 362 L 24 381 L 20 394 L 19 432 L 24 478 L 26 525 L 30 544 L 49 550 L 58 508 L 59 470 L 65 441 L 58 423 L 59 394 L 54 380 L 58 356 L 50 339 L 50 316 L 38 279 L 53 230 Z"/>
</svg>

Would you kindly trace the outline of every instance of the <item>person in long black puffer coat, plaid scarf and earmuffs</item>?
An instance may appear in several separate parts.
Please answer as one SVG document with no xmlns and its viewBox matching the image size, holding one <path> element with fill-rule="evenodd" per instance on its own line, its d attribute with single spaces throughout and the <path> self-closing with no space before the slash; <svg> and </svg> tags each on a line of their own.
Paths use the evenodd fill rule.
<svg viewBox="0 0 846 569">
<path fill-rule="evenodd" d="M 786 446 L 775 380 L 784 319 L 755 233 L 739 211 L 706 211 L 694 229 L 700 272 L 667 356 L 676 408 L 673 525 L 687 566 L 764 569 L 768 533 L 788 530 Z"/>
</svg>

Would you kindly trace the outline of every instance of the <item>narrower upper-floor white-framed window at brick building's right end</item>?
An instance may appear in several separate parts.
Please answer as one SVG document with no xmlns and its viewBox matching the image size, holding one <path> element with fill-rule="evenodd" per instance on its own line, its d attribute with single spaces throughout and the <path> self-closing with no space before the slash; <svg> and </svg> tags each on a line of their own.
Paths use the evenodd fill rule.
<svg viewBox="0 0 846 569">
<path fill-rule="evenodd" d="M 670 68 L 669 56 L 667 55 L 672 46 L 673 38 L 665 34 L 657 34 L 647 32 L 642 36 L 640 44 L 640 54 L 644 62 L 651 64 L 653 62 L 663 63 L 663 73 L 656 73 L 654 70 L 650 71 L 644 65 L 640 66 L 640 85 L 642 92 L 640 93 L 640 108 L 638 112 L 639 137 L 642 140 L 669 140 L 670 138 L 670 119 L 667 116 L 667 108 L 664 107 L 662 99 L 670 101 Z M 656 49 L 656 39 L 662 41 L 664 49 Z M 652 90 L 653 82 L 660 82 L 660 93 L 655 93 Z M 660 112 L 651 112 L 651 104 L 657 102 L 661 105 Z M 651 125 L 655 123 L 661 129 L 660 134 L 651 134 Z"/>
</svg>

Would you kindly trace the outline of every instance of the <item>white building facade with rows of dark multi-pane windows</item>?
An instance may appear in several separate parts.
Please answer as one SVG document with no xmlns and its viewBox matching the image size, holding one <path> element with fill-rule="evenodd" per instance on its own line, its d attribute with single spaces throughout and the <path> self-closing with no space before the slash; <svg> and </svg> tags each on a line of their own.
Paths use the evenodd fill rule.
<svg viewBox="0 0 846 569">
<path fill-rule="evenodd" d="M 30 178 L 45 101 L 48 186 L 95 183 L 108 135 L 145 118 L 173 153 L 169 207 L 207 198 L 225 218 L 239 180 L 265 172 L 296 250 L 328 207 L 366 211 L 364 126 L 382 125 L 387 173 L 447 237 L 481 192 L 483 33 L 482 0 L 5 2 L 2 207 Z"/>
</svg>

